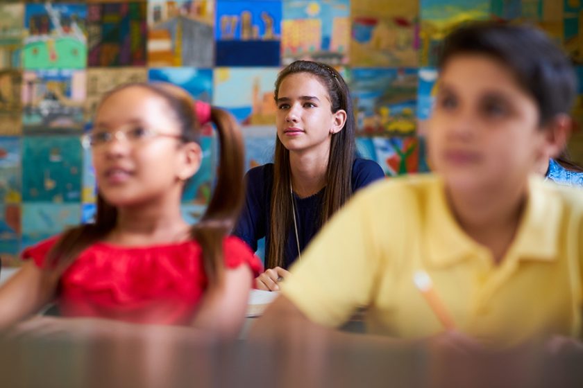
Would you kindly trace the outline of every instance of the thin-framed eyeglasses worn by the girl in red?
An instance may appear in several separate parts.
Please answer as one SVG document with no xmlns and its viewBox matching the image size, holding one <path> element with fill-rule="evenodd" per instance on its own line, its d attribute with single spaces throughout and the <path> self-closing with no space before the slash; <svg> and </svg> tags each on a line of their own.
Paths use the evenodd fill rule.
<svg viewBox="0 0 583 388">
<path fill-rule="evenodd" d="M 85 148 L 100 148 L 114 140 L 123 140 L 132 145 L 137 145 L 140 143 L 146 143 L 157 137 L 170 137 L 172 139 L 185 140 L 185 137 L 180 134 L 168 134 L 151 127 L 144 127 L 144 125 L 140 124 L 127 124 L 118 127 L 115 131 L 95 127 L 91 132 L 83 135 L 82 143 Z"/>
</svg>

